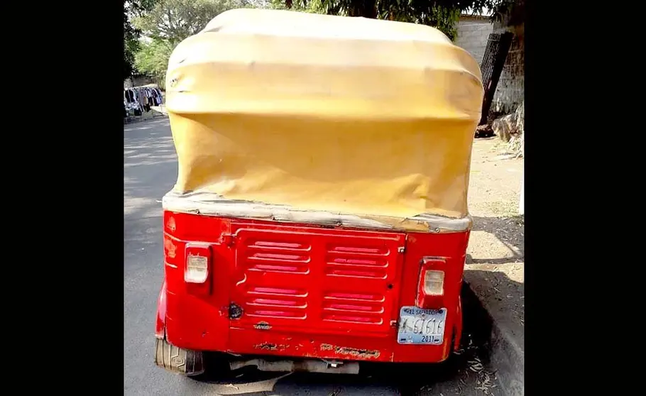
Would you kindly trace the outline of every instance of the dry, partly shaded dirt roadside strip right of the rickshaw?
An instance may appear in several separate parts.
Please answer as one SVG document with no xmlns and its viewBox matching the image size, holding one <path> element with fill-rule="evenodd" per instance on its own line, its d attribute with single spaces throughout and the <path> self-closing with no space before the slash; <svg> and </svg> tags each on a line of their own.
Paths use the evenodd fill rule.
<svg viewBox="0 0 646 396">
<path fill-rule="evenodd" d="M 477 139 L 471 159 L 473 232 L 464 277 L 492 314 L 523 342 L 525 224 L 518 215 L 522 158 L 500 159 L 498 138 Z"/>
</svg>

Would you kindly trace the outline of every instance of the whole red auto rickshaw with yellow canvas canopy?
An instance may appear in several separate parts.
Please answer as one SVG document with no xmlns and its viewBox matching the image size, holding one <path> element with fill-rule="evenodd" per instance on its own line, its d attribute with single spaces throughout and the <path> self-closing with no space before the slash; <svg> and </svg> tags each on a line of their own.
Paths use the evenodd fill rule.
<svg viewBox="0 0 646 396">
<path fill-rule="evenodd" d="M 429 26 L 236 9 L 170 57 L 155 363 L 358 373 L 460 343 L 478 63 Z"/>
</svg>

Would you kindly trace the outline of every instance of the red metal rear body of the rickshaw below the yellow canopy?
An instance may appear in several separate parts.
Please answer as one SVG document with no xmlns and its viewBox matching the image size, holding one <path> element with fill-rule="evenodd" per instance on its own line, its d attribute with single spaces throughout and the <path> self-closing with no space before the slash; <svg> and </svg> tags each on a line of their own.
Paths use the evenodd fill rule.
<svg viewBox="0 0 646 396">
<path fill-rule="evenodd" d="M 157 336 L 180 348 L 352 361 L 439 362 L 459 341 L 469 231 L 404 233 L 164 213 Z M 212 246 L 208 292 L 184 281 L 185 244 Z M 424 257 L 442 258 L 441 345 L 397 342 Z M 455 339 L 453 338 L 455 337 Z"/>
</svg>

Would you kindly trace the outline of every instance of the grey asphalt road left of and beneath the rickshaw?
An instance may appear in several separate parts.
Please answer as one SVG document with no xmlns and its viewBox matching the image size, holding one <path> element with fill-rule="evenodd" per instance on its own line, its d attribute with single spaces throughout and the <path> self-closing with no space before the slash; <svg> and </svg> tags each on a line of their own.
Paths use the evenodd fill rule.
<svg viewBox="0 0 646 396">
<path fill-rule="evenodd" d="M 464 351 L 439 365 L 376 365 L 362 368 L 359 375 L 245 368 L 228 381 L 183 378 L 155 366 L 153 332 L 163 280 L 160 201 L 176 177 L 167 118 L 124 126 L 124 395 L 498 395 L 486 368 L 486 348 L 481 348 L 485 338 L 478 336 L 486 330 L 481 321 L 469 318 Z"/>
</svg>

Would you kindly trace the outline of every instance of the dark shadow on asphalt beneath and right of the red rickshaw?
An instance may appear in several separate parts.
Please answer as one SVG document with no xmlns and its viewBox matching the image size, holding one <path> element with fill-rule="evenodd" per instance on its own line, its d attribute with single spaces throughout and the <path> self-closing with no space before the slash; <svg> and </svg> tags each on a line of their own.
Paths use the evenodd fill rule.
<svg viewBox="0 0 646 396">
<path fill-rule="evenodd" d="M 236 370 L 228 378 L 207 373 L 189 379 L 189 388 L 209 387 L 217 395 L 288 396 L 305 389 L 307 395 L 484 395 L 474 390 L 486 364 L 491 321 L 468 287 L 462 292 L 464 331 L 461 348 L 444 363 L 364 363 L 358 375 L 316 373 L 265 373 L 256 368 Z M 480 366 L 478 367 L 478 363 Z M 476 370 L 471 370 L 473 366 Z M 493 381 L 493 378 L 491 378 Z M 300 394 L 300 393 L 299 393 Z M 488 393 L 491 395 L 491 392 Z"/>
</svg>

